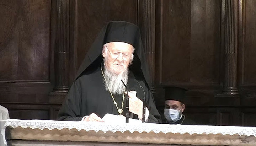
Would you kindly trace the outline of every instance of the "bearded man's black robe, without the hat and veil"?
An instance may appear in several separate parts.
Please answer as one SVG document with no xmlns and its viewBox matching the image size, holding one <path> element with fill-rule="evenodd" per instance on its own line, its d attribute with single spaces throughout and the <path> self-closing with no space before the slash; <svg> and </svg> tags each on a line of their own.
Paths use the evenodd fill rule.
<svg viewBox="0 0 256 146">
<path fill-rule="evenodd" d="M 121 82 L 121 81 L 120 81 Z M 143 89 L 140 87 L 140 85 Z M 160 114 L 156 109 L 153 96 L 145 82 L 136 80 L 129 75 L 129 91 L 137 91 L 137 97 L 142 100 L 145 91 L 146 106 L 149 110 L 149 123 L 161 123 Z M 122 107 L 122 95 L 113 95 L 118 108 Z M 123 115 L 125 114 L 126 100 L 124 100 Z M 118 110 L 114 105 L 110 92 L 106 91 L 100 67 L 90 74 L 84 74 L 73 82 L 64 101 L 57 119 L 67 121 L 80 121 L 82 117 L 91 113 L 103 117 L 106 113 L 118 115 Z M 133 114 L 133 118 L 138 119 Z"/>
</svg>

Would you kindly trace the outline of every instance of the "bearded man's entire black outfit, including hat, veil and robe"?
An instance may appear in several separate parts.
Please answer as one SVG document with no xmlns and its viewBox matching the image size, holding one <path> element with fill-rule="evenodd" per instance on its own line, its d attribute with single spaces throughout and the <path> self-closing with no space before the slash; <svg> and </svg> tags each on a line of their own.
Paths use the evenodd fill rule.
<svg viewBox="0 0 256 146">
<path fill-rule="evenodd" d="M 139 27 L 123 21 L 109 22 L 98 34 L 79 67 L 76 78 L 57 115 L 57 119 L 80 121 L 82 117 L 90 115 L 91 113 L 95 113 L 101 118 L 106 113 L 119 114 L 110 92 L 105 90 L 100 67 L 103 60 L 103 44 L 109 42 L 125 42 L 133 45 L 135 52 L 133 63 L 129 66 L 129 91 L 137 91 L 137 97 L 142 100 L 144 90 L 146 106 L 149 110 L 148 122 L 161 123 L 160 114 L 156 109 L 154 98 L 149 88 L 149 72 L 140 38 Z M 113 96 L 117 102 L 118 108 L 121 108 L 123 94 Z M 123 115 L 125 114 L 125 105 L 124 100 Z M 133 118 L 138 119 L 135 114 L 133 114 Z"/>
</svg>

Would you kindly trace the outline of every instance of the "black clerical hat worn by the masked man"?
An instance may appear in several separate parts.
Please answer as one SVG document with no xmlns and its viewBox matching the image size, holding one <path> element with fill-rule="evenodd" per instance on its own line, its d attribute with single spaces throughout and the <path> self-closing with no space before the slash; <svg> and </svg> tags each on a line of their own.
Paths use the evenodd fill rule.
<svg viewBox="0 0 256 146">
<path fill-rule="evenodd" d="M 165 100 L 175 100 L 184 103 L 186 89 L 180 87 L 165 87 Z"/>
</svg>

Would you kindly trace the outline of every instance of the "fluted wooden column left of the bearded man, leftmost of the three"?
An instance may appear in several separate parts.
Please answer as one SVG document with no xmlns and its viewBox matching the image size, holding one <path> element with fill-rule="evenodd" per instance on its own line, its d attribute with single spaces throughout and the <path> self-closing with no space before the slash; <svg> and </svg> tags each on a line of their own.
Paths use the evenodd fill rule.
<svg viewBox="0 0 256 146">
<path fill-rule="evenodd" d="M 69 0 L 57 0 L 53 92 L 68 92 L 69 81 Z"/>
</svg>

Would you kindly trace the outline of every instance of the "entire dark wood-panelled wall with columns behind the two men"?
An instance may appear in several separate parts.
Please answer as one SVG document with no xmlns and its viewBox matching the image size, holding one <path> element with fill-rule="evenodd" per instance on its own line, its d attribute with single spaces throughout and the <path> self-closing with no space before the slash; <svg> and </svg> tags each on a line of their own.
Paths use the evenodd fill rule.
<svg viewBox="0 0 256 146">
<path fill-rule="evenodd" d="M 0 0 L 0 104 L 55 119 L 82 59 L 113 20 L 137 24 L 162 114 L 187 88 L 187 117 L 256 126 L 255 0 Z"/>
</svg>

